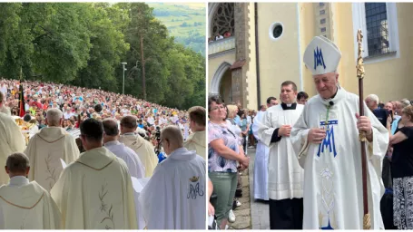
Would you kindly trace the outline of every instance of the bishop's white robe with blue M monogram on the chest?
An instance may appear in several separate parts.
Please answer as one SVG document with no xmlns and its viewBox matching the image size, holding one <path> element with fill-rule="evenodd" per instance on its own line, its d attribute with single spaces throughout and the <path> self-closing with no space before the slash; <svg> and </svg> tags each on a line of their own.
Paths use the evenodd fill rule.
<svg viewBox="0 0 413 232">
<path fill-rule="evenodd" d="M 308 141 L 311 128 L 326 126 L 328 131 L 319 144 Z M 371 228 L 383 228 L 380 199 L 384 193 L 381 165 L 388 149 L 388 131 L 364 104 L 373 128 L 372 142 L 366 142 L 368 161 L 368 196 Z M 332 100 L 317 95 L 305 105 L 291 131 L 291 141 L 304 168 L 304 229 L 363 228 L 363 191 L 361 147 L 356 112 L 359 96 L 339 89 Z"/>
</svg>

